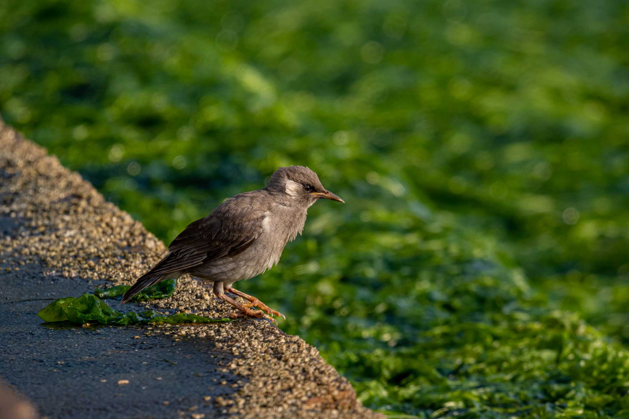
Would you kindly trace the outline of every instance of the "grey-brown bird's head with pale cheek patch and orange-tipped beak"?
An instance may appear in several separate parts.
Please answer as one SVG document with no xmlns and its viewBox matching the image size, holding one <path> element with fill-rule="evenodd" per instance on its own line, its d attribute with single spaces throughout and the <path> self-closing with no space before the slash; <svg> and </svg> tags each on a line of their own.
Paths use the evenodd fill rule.
<svg viewBox="0 0 629 419">
<path fill-rule="evenodd" d="M 271 176 L 267 189 L 283 193 L 296 203 L 309 207 L 320 198 L 344 202 L 321 185 L 316 173 L 304 166 L 278 168 Z"/>
</svg>

